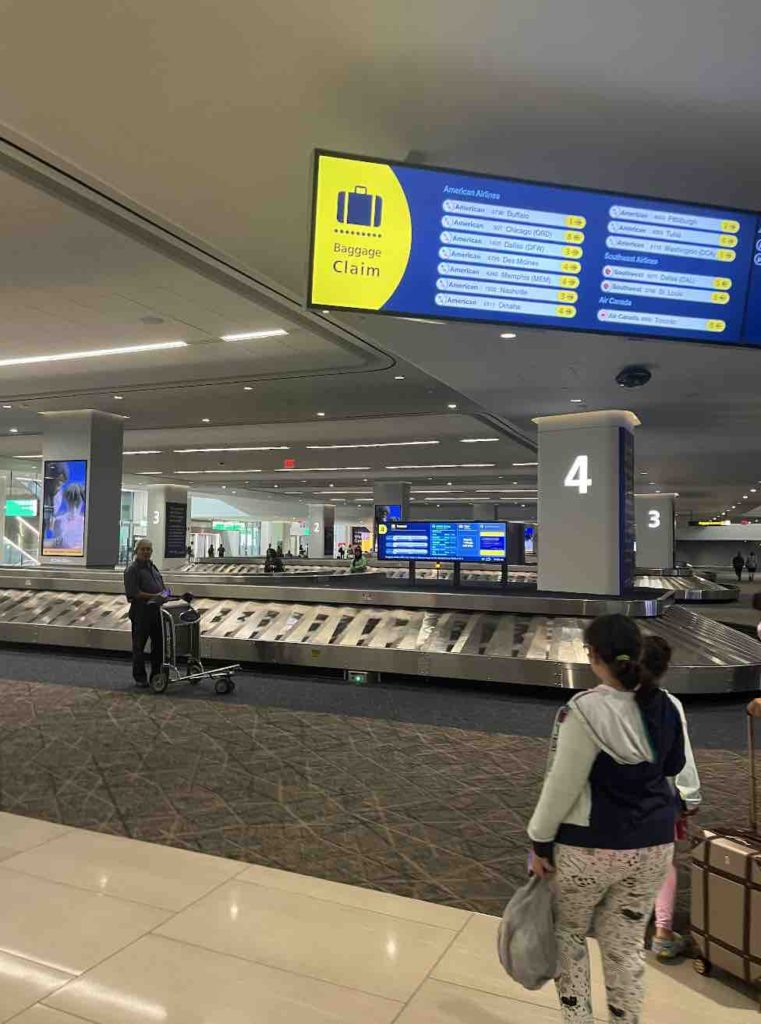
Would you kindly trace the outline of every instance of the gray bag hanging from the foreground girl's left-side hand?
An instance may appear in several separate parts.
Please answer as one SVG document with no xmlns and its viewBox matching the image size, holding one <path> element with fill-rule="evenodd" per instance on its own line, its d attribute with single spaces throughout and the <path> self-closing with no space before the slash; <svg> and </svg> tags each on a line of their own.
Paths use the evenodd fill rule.
<svg viewBox="0 0 761 1024">
<path fill-rule="evenodd" d="M 557 943 L 552 885 L 533 874 L 502 914 L 497 937 L 500 963 L 532 991 L 557 977 Z"/>
</svg>

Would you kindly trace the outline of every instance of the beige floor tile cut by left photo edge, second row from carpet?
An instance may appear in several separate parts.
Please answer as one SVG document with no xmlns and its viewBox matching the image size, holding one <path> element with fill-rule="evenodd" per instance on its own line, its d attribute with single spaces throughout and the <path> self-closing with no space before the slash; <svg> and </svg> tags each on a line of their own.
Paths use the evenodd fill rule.
<svg viewBox="0 0 761 1024">
<path fill-rule="evenodd" d="M 80 974 L 166 918 L 165 910 L 0 865 L 0 949 L 54 970 Z"/>
</svg>

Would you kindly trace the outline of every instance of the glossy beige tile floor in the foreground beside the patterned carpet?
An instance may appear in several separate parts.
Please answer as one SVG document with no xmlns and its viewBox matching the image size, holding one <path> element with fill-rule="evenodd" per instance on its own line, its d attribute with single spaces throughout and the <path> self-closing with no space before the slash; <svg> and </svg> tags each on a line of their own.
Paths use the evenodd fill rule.
<svg viewBox="0 0 761 1024">
<path fill-rule="evenodd" d="M 559 1024 L 497 921 L 0 813 L 0 1024 Z M 604 1011 L 598 958 L 595 997 Z M 643 1024 L 756 1024 L 737 986 L 648 964 Z"/>
</svg>

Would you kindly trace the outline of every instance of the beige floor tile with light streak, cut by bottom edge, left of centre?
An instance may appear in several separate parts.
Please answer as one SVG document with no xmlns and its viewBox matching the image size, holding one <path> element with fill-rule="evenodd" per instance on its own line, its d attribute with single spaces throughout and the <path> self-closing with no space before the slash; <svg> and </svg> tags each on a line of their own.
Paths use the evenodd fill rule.
<svg viewBox="0 0 761 1024">
<path fill-rule="evenodd" d="M 97 1024 L 390 1024 L 403 1007 L 153 935 L 48 1002 Z"/>
</svg>

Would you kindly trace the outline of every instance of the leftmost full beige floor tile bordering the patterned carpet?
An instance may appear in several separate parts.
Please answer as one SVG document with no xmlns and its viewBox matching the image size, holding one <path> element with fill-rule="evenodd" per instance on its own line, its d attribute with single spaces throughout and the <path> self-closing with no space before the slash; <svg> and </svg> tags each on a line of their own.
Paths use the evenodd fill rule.
<svg viewBox="0 0 761 1024">
<path fill-rule="evenodd" d="M 76 829 L 4 866 L 167 910 L 181 910 L 243 869 L 235 860 Z"/>
</svg>

